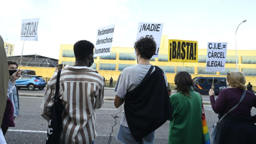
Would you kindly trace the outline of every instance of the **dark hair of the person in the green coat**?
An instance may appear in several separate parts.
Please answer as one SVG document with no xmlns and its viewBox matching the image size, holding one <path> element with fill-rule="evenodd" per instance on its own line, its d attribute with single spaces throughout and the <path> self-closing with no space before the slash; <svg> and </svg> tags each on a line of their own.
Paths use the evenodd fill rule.
<svg viewBox="0 0 256 144">
<path fill-rule="evenodd" d="M 175 90 L 181 92 L 183 95 L 190 97 L 189 89 L 194 85 L 191 75 L 187 71 L 180 71 L 174 78 Z"/>
</svg>

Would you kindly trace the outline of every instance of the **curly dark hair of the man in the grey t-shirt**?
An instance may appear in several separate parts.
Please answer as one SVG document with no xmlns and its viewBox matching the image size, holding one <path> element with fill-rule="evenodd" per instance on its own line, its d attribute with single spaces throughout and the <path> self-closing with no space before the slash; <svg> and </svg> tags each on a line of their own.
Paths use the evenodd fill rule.
<svg viewBox="0 0 256 144">
<path fill-rule="evenodd" d="M 134 48 L 138 49 L 141 58 L 150 59 L 156 53 L 156 42 L 154 38 L 141 37 L 135 42 Z"/>
</svg>

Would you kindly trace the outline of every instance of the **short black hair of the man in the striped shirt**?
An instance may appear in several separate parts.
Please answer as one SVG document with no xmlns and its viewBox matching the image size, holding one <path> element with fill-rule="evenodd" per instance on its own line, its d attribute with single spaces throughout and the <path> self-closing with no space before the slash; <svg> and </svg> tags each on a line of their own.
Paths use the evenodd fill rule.
<svg viewBox="0 0 256 144">
<path fill-rule="evenodd" d="M 81 40 L 74 45 L 74 54 L 77 60 L 85 60 L 90 54 L 93 55 L 94 45 L 86 40 Z"/>
</svg>

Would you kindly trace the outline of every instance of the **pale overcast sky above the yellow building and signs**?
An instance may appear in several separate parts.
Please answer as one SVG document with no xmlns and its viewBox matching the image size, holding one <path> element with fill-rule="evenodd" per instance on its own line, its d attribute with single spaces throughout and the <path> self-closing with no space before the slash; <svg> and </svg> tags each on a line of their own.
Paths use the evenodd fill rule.
<svg viewBox="0 0 256 144">
<path fill-rule="evenodd" d="M 25 41 L 23 54 L 59 58 L 60 44 L 86 39 L 94 45 L 99 27 L 115 24 L 113 47 L 132 47 L 139 22 L 164 23 L 169 39 L 227 42 L 228 50 L 256 50 L 256 1 L 1 1 L 0 35 L 21 55 L 21 20 L 40 18 L 38 41 Z"/>
</svg>

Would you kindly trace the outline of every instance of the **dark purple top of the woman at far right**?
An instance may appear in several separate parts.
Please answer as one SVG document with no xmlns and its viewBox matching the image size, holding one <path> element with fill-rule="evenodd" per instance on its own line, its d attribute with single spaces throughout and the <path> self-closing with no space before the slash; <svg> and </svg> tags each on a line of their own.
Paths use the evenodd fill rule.
<svg viewBox="0 0 256 144">
<path fill-rule="evenodd" d="M 216 101 L 214 95 L 211 95 L 210 101 L 213 111 L 221 116 L 228 113 L 228 111 L 239 102 L 243 95 L 243 91 L 244 90 L 239 88 L 221 90 Z M 244 99 L 237 108 L 228 113 L 228 115 L 251 116 L 252 107 L 256 107 L 256 95 L 250 91 L 246 91 Z M 256 123 L 256 115 L 252 116 L 252 118 L 253 122 Z"/>
</svg>

